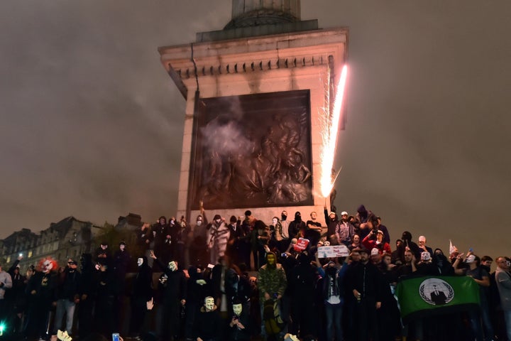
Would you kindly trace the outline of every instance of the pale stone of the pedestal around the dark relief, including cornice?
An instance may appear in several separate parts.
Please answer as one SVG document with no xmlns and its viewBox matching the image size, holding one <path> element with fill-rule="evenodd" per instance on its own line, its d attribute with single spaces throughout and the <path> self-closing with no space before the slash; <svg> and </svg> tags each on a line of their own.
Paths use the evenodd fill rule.
<svg viewBox="0 0 511 341">
<path fill-rule="evenodd" d="M 243 215 L 244 210 L 251 210 L 255 217 L 268 223 L 273 216 L 280 216 L 283 209 L 287 210 L 290 217 L 293 217 L 295 211 L 302 212 L 304 220 L 307 220 L 309 213 L 313 210 L 318 212 L 320 218 L 322 217 L 323 206 L 325 204 L 329 206 L 329 199 L 319 194 L 319 179 L 322 171 L 328 173 L 331 171 L 322 170 L 320 166 L 322 132 L 324 131 L 324 117 L 322 115 L 324 108 L 332 106 L 331 101 L 334 97 L 336 81 L 341 74 L 341 68 L 346 63 L 347 41 L 347 29 L 337 28 L 164 46 L 158 49 L 165 70 L 187 100 L 177 215 L 187 215 L 188 218 L 194 218 L 198 214 L 197 191 L 201 193 L 201 188 L 200 186 L 197 187 L 197 169 L 195 167 L 197 162 L 203 161 L 204 151 L 199 150 L 202 145 L 197 145 L 197 141 L 200 141 L 197 136 L 204 134 L 204 132 L 201 133 L 201 129 L 205 129 L 205 125 L 201 123 L 201 120 L 204 120 L 205 117 L 202 111 L 207 112 L 208 110 L 207 105 L 216 105 L 214 99 L 218 98 L 231 100 L 236 96 L 243 97 L 256 94 L 261 94 L 263 99 L 266 98 L 267 94 L 268 96 L 270 96 L 269 94 L 282 94 L 284 96 L 282 98 L 297 95 L 302 98 L 306 94 L 309 107 L 305 106 L 307 107 L 305 111 L 307 117 L 304 117 L 302 121 L 307 122 L 309 126 L 302 130 L 300 146 L 307 144 L 308 154 L 305 156 L 305 153 L 302 155 L 301 152 L 296 152 L 292 159 L 298 160 L 299 163 L 303 162 L 304 168 L 310 167 L 308 170 L 309 178 L 307 178 L 312 186 L 309 193 L 310 197 L 305 200 L 298 193 L 300 190 L 297 190 L 298 197 L 295 198 L 286 195 L 286 190 L 282 189 L 281 192 L 284 194 L 281 193 L 280 196 L 275 195 L 275 197 L 268 195 L 268 200 L 263 205 L 258 205 L 258 207 L 232 205 L 230 208 L 223 207 L 213 210 L 211 206 L 216 204 L 211 199 L 215 197 L 211 192 L 214 192 L 214 189 L 209 188 L 205 190 L 205 193 L 208 193 L 207 195 L 211 200 L 209 205 L 205 204 L 204 206 L 206 210 L 209 210 L 209 219 L 216 213 L 229 219 L 231 215 Z M 198 99 L 195 98 L 197 86 L 199 90 Z M 247 98 L 248 102 L 243 103 L 250 103 L 256 97 Z M 269 115 L 272 115 L 272 109 L 275 108 L 268 108 Z M 231 114 L 236 114 L 232 111 L 233 109 L 229 110 Z M 245 113 L 250 112 L 250 108 L 243 110 Z M 259 112 L 255 114 L 259 114 Z M 261 113 L 261 117 L 265 117 L 264 114 L 268 113 Z M 275 114 L 273 115 L 275 117 Z M 303 116 L 302 113 L 301 117 Z M 252 121 L 249 121 L 253 124 L 253 118 L 251 117 L 251 119 Z M 236 124 L 241 124 L 245 120 L 238 120 Z M 277 120 L 280 122 L 281 117 L 279 116 Z M 278 122 L 275 124 L 278 125 Z M 220 123 L 219 126 L 228 126 L 229 124 L 231 122 L 224 122 L 223 124 Z M 261 122 L 261 124 L 265 126 L 264 129 L 271 129 L 268 122 Z M 287 122 L 287 126 L 289 124 L 292 124 L 292 122 Z M 286 124 L 280 124 L 280 126 L 280 129 L 282 129 L 282 126 L 286 126 Z M 262 144 L 264 145 L 264 143 Z M 209 147 L 211 148 L 211 146 Z M 264 146 L 262 150 L 264 154 Z M 206 153 L 214 153 L 214 150 L 208 149 Z M 246 151 L 247 156 L 257 155 L 257 153 L 251 153 L 253 151 Z M 202 156 L 200 160 L 197 160 L 198 155 Z M 214 158 L 209 154 L 208 157 Z M 192 158 L 193 162 L 191 162 Z M 268 158 L 270 157 L 266 156 L 266 160 Z M 306 158 L 309 158 L 309 161 L 307 161 L 309 163 L 305 163 Z M 238 162 L 248 161 L 233 161 L 233 164 L 236 165 Z M 255 161 L 253 166 L 247 166 L 246 168 L 257 168 L 256 163 Z M 214 163 L 211 162 L 203 164 L 201 172 L 209 172 L 209 176 L 211 176 L 211 173 L 217 172 L 215 167 Z M 221 168 L 221 165 L 218 167 L 224 169 Z M 266 171 L 268 172 L 268 170 Z M 282 170 L 270 167 L 269 172 L 272 171 L 282 172 Z M 234 176 L 236 172 L 236 169 L 234 169 L 231 171 L 232 174 L 228 174 L 226 177 Z M 307 175 L 304 175 L 304 173 L 307 173 L 307 171 L 302 171 L 301 175 L 298 176 L 299 178 L 303 177 L 305 183 Z M 259 180 L 257 172 L 252 179 L 255 179 L 253 180 L 255 183 L 251 184 L 254 188 L 263 187 L 260 182 L 264 182 L 265 179 Z M 242 183 L 240 187 L 244 185 L 246 183 Z M 222 186 L 224 185 L 219 184 L 217 187 L 220 189 L 231 188 L 229 185 Z M 190 193 L 189 190 L 194 192 Z M 257 190 L 254 191 L 258 192 Z M 225 195 L 231 194 L 229 191 L 225 193 Z M 256 194 L 260 195 L 260 193 Z M 192 197 L 194 197 L 193 200 Z M 286 198 L 292 198 L 289 204 L 284 202 Z M 300 202 L 307 202 L 307 205 L 300 205 Z"/>
</svg>

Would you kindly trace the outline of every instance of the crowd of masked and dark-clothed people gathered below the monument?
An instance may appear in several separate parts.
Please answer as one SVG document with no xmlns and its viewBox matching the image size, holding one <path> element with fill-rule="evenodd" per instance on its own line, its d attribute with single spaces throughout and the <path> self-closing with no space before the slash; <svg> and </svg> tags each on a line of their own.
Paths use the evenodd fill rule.
<svg viewBox="0 0 511 341">
<path fill-rule="evenodd" d="M 361 205 L 355 215 L 317 212 L 302 220 L 287 211 L 263 222 L 246 211 L 229 219 L 204 210 L 136 232 L 126 243 L 59 267 L 43 259 L 21 274 L 18 259 L 0 264 L 4 333 L 48 340 L 65 330 L 80 340 L 127 329 L 138 340 L 511 340 L 511 263 L 473 251 L 444 254 L 424 236 L 402 232 L 391 243 L 380 217 Z M 318 249 L 344 245 L 348 256 Z M 392 245 L 392 246 L 391 246 Z M 471 276 L 480 287 L 476 310 L 403 321 L 394 296 L 412 276 Z M 436 291 L 435 291 L 436 293 Z M 128 326 L 125 328 L 123 326 Z M 1 335 L 1 334 L 0 334 Z"/>
</svg>

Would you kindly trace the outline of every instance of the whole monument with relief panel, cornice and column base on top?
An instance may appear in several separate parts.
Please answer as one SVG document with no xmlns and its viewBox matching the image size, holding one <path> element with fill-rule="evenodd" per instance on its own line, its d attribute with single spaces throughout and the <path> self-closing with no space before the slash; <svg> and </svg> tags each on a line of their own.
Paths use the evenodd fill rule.
<svg viewBox="0 0 511 341">
<path fill-rule="evenodd" d="M 347 42 L 346 28 L 300 21 L 298 0 L 233 0 L 223 30 L 158 48 L 187 101 L 178 215 L 194 219 L 203 202 L 209 219 L 251 210 L 270 224 L 285 209 L 290 220 L 316 211 L 324 224 L 325 108 Z"/>
</svg>

